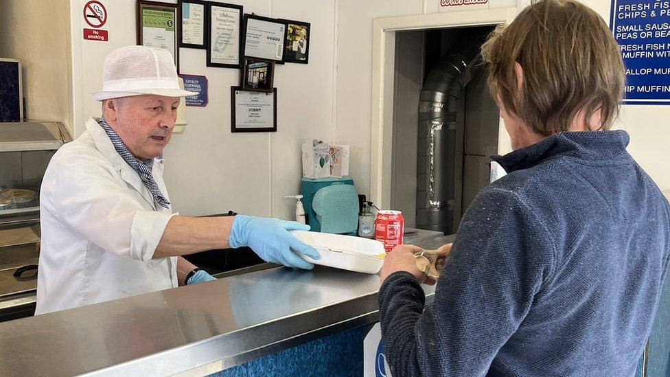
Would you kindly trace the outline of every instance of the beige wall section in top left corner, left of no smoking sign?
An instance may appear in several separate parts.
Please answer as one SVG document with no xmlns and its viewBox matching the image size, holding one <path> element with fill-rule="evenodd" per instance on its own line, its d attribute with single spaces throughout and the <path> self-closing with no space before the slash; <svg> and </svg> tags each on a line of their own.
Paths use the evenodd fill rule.
<svg viewBox="0 0 670 377">
<path fill-rule="evenodd" d="M 0 57 L 22 60 L 28 119 L 62 122 L 72 132 L 68 9 L 67 0 L 0 1 Z"/>
</svg>

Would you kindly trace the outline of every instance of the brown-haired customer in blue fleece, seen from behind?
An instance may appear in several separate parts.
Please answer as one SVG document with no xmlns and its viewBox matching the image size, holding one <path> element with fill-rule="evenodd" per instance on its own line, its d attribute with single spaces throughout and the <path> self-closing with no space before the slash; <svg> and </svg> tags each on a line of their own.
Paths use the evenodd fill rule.
<svg viewBox="0 0 670 377">
<path fill-rule="evenodd" d="M 426 305 L 417 247 L 386 256 L 382 341 L 400 376 L 632 376 L 670 258 L 670 206 L 608 130 L 623 88 L 604 21 L 545 0 L 482 48 L 514 152 L 467 209 Z M 634 125 L 630 125 L 634 126 Z"/>
</svg>

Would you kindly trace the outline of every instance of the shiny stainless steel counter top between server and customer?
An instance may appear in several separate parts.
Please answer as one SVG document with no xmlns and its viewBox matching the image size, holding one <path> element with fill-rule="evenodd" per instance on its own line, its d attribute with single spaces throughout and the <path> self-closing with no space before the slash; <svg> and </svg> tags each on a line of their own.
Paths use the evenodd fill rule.
<svg viewBox="0 0 670 377">
<path fill-rule="evenodd" d="M 217 372 L 377 321 L 378 279 L 278 267 L 0 323 L 0 375 Z"/>
</svg>

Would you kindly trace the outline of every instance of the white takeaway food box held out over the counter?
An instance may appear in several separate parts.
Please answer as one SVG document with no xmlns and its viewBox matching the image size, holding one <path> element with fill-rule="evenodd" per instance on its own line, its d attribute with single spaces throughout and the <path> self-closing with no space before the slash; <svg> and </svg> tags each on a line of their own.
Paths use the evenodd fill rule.
<svg viewBox="0 0 670 377">
<path fill-rule="evenodd" d="M 384 244 L 376 240 L 316 231 L 290 233 L 319 252 L 320 260 L 299 253 L 301 258 L 310 263 L 360 273 L 378 273 L 384 264 L 384 260 L 378 256 L 384 253 Z"/>
</svg>

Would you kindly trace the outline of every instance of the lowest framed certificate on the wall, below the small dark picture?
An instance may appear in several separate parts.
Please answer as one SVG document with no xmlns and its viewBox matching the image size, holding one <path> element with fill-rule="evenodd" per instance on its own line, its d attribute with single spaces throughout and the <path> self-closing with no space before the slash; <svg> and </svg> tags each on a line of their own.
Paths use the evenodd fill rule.
<svg viewBox="0 0 670 377">
<path fill-rule="evenodd" d="M 235 91 L 235 128 L 273 128 L 275 93 Z"/>
</svg>

